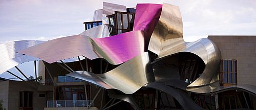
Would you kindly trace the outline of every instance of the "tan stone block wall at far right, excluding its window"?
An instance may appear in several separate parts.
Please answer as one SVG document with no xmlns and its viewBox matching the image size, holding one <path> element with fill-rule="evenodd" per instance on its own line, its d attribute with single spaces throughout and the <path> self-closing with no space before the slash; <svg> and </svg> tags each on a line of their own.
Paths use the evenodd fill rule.
<svg viewBox="0 0 256 110">
<path fill-rule="evenodd" d="M 220 48 L 222 59 L 237 60 L 238 84 L 256 85 L 256 36 L 208 36 Z"/>
</svg>

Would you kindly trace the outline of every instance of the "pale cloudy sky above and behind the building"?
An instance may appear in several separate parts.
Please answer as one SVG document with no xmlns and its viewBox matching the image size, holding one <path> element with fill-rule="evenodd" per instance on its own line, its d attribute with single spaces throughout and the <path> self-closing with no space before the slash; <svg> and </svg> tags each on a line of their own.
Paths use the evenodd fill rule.
<svg viewBox="0 0 256 110">
<path fill-rule="evenodd" d="M 0 0 L 0 44 L 77 35 L 84 31 L 83 22 L 92 21 L 94 10 L 102 8 L 102 2 L 126 8 L 136 7 L 138 3 L 179 6 L 185 41 L 208 35 L 256 35 L 254 0 Z M 30 66 L 34 68 L 33 64 Z M 29 77 L 34 73 L 27 74 Z M 11 76 L 5 73 L 0 77 Z"/>
</svg>

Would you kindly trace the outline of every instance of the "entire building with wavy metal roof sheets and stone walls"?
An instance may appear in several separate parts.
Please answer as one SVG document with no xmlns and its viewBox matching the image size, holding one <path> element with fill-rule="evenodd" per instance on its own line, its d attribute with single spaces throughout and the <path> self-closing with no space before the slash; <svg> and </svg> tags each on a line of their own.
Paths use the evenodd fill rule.
<svg viewBox="0 0 256 110">
<path fill-rule="evenodd" d="M 185 42 L 179 8 L 165 3 L 136 8 L 103 3 L 94 21 L 84 24 L 86 31 L 79 35 L 0 47 L 12 47 L 9 56 L 2 55 L 9 59 L 0 63 L 1 72 L 39 60 L 36 80 L 0 82 L 4 107 L 256 108 L 256 36 Z"/>
</svg>

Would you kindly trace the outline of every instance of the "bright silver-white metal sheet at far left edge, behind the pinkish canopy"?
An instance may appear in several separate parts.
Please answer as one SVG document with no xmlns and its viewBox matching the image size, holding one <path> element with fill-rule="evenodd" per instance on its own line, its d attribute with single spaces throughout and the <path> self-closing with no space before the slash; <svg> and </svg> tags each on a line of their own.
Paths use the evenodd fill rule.
<svg viewBox="0 0 256 110">
<path fill-rule="evenodd" d="M 38 58 L 29 56 L 29 55 L 22 55 L 16 53 L 19 50 L 26 49 L 28 47 L 37 45 L 45 41 L 39 40 L 20 40 L 20 41 L 13 41 L 9 43 L 4 43 L 0 45 L 0 74 L 6 72 L 7 70 L 15 67 L 18 64 L 40 60 Z"/>
</svg>

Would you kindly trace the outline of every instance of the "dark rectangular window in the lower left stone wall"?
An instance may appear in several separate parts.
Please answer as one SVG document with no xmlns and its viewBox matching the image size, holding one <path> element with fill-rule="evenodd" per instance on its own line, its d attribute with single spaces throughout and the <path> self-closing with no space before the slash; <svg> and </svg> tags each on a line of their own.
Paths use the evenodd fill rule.
<svg viewBox="0 0 256 110">
<path fill-rule="evenodd" d="M 19 92 L 19 108 L 33 109 L 33 92 Z"/>
</svg>

